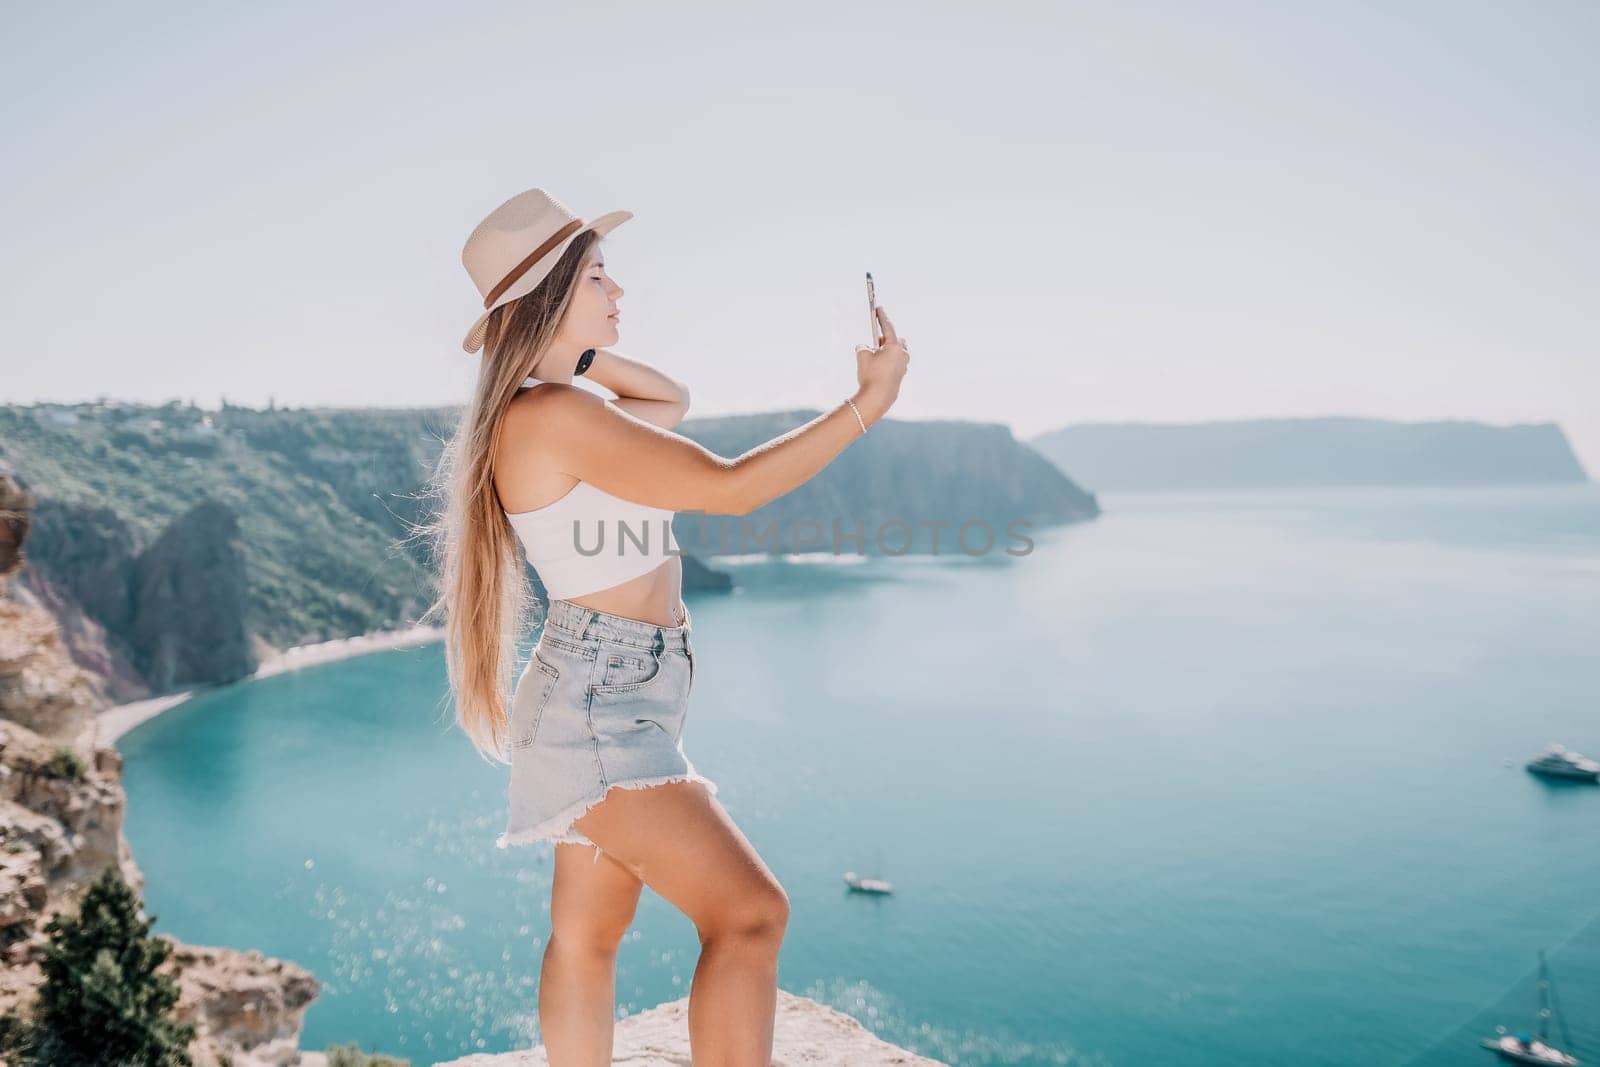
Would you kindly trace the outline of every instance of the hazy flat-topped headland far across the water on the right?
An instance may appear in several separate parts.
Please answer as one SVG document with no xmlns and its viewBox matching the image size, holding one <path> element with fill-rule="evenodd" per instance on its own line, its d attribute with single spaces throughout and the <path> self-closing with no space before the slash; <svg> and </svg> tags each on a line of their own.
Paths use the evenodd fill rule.
<svg viewBox="0 0 1600 1067">
<path fill-rule="evenodd" d="M 1090 422 L 1030 438 L 1096 490 L 1587 482 L 1554 422 Z"/>
</svg>

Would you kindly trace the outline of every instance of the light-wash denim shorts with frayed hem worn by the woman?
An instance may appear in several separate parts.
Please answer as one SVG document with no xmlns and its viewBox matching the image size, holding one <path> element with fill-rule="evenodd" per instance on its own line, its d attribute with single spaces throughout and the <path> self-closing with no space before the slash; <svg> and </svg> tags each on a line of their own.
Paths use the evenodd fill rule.
<svg viewBox="0 0 1600 1067">
<path fill-rule="evenodd" d="M 550 601 L 512 694 L 509 813 L 496 846 L 594 845 L 573 821 L 611 787 L 691 781 L 717 792 L 683 753 L 691 624 L 686 605 L 682 624 L 656 625 Z"/>
</svg>

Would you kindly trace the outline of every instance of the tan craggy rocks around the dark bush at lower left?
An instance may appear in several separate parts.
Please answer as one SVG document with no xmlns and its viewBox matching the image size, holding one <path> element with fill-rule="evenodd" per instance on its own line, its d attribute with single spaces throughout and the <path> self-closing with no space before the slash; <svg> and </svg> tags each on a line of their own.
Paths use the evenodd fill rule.
<svg viewBox="0 0 1600 1067">
<path fill-rule="evenodd" d="M 117 867 L 134 891 L 144 889 L 123 835 L 122 757 L 99 741 L 101 697 L 50 611 L 32 595 L 18 597 L 8 581 L 26 561 L 30 504 L 0 475 L 0 1013 L 29 1009 L 43 981 L 46 923 L 75 912 L 102 870 Z M 198 541 L 186 544 L 214 545 L 229 520 L 202 514 L 195 526 Z M 173 568 L 179 549 L 163 550 Z M 227 561 L 213 557 L 213 565 L 226 569 Z M 259 952 L 173 944 L 163 971 L 182 990 L 176 1014 L 197 1027 L 195 1064 L 299 1062 L 306 1008 L 318 992 L 310 973 Z"/>
</svg>

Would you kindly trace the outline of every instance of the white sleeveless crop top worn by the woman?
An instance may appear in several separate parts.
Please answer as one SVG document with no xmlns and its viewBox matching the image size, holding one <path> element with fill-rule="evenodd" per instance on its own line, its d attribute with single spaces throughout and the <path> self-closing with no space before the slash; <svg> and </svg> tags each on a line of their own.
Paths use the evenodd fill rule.
<svg viewBox="0 0 1600 1067">
<path fill-rule="evenodd" d="M 541 379 L 528 378 L 523 386 Z M 678 550 L 672 512 L 579 482 L 531 512 L 506 512 L 550 600 L 582 597 L 656 569 Z"/>
</svg>

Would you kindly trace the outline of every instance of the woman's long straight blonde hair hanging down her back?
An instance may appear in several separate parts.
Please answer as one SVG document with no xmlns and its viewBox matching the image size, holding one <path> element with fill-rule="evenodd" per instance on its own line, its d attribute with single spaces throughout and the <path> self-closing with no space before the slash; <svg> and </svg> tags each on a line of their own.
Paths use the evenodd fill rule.
<svg viewBox="0 0 1600 1067">
<path fill-rule="evenodd" d="M 456 723 L 498 763 L 506 761 L 517 643 L 536 621 L 534 608 L 549 601 L 530 595 L 517 531 L 494 491 L 494 445 L 507 405 L 555 339 L 597 240 L 594 230 L 579 234 L 536 290 L 490 314 L 478 382 L 424 488 L 437 506 L 413 534 L 427 539 L 438 577 L 438 598 L 419 622 L 445 619 Z"/>
</svg>

